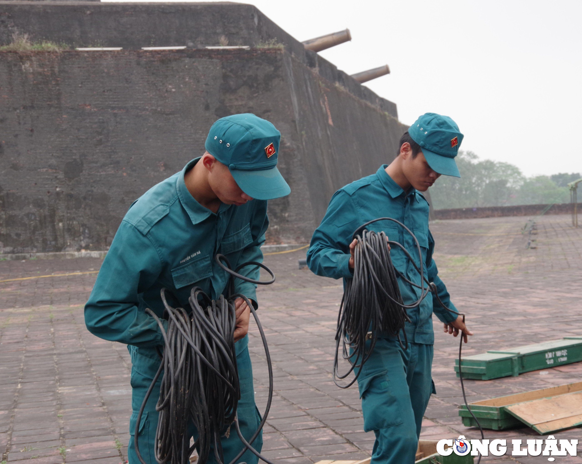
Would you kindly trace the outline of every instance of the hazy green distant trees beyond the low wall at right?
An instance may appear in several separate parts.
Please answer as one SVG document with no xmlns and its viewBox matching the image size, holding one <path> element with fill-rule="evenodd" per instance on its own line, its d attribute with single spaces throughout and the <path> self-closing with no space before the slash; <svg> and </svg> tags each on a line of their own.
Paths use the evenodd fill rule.
<svg viewBox="0 0 582 464">
<path fill-rule="evenodd" d="M 526 177 L 517 166 L 480 160 L 471 151 L 459 151 L 455 158 L 460 178 L 441 176 L 429 190 L 437 210 L 481 206 L 569 203 L 569 182 L 579 172 Z"/>
</svg>

